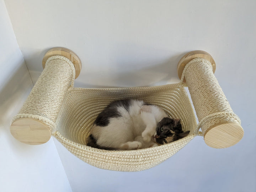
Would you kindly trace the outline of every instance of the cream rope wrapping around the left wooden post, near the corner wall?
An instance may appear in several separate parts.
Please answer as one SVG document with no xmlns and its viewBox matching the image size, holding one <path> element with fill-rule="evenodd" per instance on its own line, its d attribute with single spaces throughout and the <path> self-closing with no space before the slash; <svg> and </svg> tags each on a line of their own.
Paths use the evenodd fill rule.
<svg viewBox="0 0 256 192">
<path fill-rule="evenodd" d="M 63 56 L 50 57 L 20 113 L 12 122 L 18 118 L 34 118 L 53 130 L 70 83 L 73 86 L 74 75 L 74 65 L 69 59 Z"/>
</svg>

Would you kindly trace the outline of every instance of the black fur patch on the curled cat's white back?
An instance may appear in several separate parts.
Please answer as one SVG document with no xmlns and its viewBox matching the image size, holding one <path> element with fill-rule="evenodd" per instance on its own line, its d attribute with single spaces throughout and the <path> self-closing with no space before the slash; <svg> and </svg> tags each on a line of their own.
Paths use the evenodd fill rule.
<svg viewBox="0 0 256 192">
<path fill-rule="evenodd" d="M 111 102 L 96 118 L 95 124 L 97 126 L 105 127 L 108 125 L 110 118 L 121 117 L 121 114 L 117 111 L 117 107 L 124 107 L 127 111 L 130 108 L 130 100 L 117 100 Z"/>
</svg>

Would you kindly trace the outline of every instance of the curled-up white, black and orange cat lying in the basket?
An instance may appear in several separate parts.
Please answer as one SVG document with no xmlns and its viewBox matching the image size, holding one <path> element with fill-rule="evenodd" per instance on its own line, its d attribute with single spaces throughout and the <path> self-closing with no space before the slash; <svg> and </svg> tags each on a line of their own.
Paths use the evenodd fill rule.
<svg viewBox="0 0 256 192">
<path fill-rule="evenodd" d="M 186 137 L 180 119 L 140 100 L 117 100 L 96 118 L 87 145 L 105 150 L 134 150 L 174 142 Z"/>
</svg>

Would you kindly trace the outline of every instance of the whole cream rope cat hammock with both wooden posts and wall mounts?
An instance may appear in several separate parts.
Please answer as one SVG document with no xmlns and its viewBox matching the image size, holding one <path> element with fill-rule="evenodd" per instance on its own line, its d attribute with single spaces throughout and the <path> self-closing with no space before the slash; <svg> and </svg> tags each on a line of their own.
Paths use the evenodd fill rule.
<svg viewBox="0 0 256 192">
<path fill-rule="evenodd" d="M 75 88 L 81 61 L 65 48 L 50 49 L 44 55 L 43 68 L 20 112 L 12 119 L 11 134 L 23 143 L 43 144 L 53 135 L 90 165 L 141 171 L 165 161 L 197 135 L 203 136 L 205 143 L 213 148 L 232 146 L 244 135 L 239 117 L 213 74 L 215 62 L 207 52 L 193 51 L 182 57 L 177 67 L 179 83 L 153 87 Z M 190 91 L 198 124 L 185 86 Z M 86 146 L 97 115 L 111 101 L 124 98 L 160 106 L 170 117 L 180 118 L 183 130 L 190 130 L 190 134 L 166 145 L 139 150 L 107 151 Z"/>
</svg>

